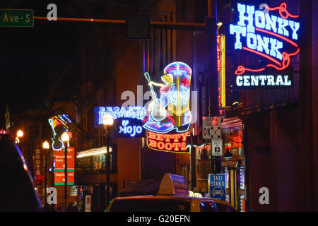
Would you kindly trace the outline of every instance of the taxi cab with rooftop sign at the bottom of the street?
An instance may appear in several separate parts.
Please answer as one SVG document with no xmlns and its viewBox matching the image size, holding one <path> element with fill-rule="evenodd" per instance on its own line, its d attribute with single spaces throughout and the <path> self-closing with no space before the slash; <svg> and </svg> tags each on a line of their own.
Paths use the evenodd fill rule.
<svg viewBox="0 0 318 226">
<path fill-rule="evenodd" d="M 225 201 L 189 196 L 184 177 L 165 174 L 158 195 L 117 197 L 110 202 L 106 212 L 237 212 L 237 210 Z"/>
</svg>

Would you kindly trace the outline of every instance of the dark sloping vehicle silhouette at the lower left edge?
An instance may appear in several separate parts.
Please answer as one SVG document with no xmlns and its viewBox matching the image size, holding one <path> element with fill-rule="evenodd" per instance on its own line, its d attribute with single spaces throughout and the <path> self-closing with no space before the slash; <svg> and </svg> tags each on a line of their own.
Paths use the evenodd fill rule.
<svg viewBox="0 0 318 226">
<path fill-rule="evenodd" d="M 0 212 L 42 211 L 20 148 L 8 135 L 0 135 L 0 177 Z"/>
</svg>

